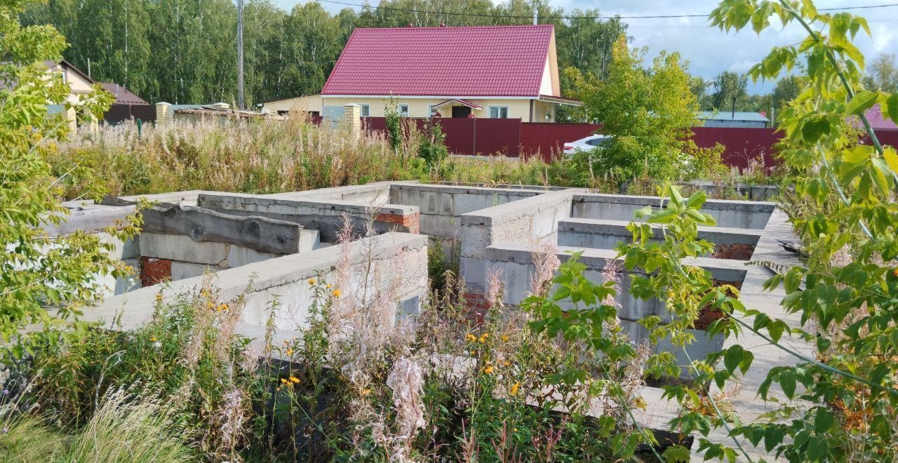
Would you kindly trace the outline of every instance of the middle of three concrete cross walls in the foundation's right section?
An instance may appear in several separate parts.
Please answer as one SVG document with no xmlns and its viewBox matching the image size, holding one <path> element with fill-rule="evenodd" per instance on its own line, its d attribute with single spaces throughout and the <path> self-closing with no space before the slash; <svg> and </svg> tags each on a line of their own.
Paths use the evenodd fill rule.
<svg viewBox="0 0 898 463">
<path fill-rule="evenodd" d="M 615 249 L 621 242 L 632 240 L 632 233 L 627 230 L 629 222 L 600 219 L 568 219 L 559 221 L 559 246 L 577 248 Z M 660 227 L 653 227 L 654 239 L 663 241 L 664 234 Z M 734 258 L 730 249 L 744 250 L 742 260 L 752 257 L 754 247 L 761 239 L 761 231 L 726 227 L 699 227 L 699 238 L 709 240 L 716 246 L 715 254 L 707 257 Z M 738 245 L 735 247 L 734 245 Z M 729 251 L 729 252 L 726 252 Z M 740 254 L 740 257 L 742 255 Z"/>
</svg>

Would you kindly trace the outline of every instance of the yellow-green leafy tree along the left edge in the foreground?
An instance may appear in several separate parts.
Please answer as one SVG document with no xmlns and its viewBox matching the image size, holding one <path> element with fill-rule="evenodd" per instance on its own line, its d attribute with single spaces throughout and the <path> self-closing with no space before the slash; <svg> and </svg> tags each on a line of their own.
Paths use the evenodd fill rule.
<svg viewBox="0 0 898 463">
<path fill-rule="evenodd" d="M 77 102 L 68 100 L 68 84 L 60 74 L 48 75 L 44 64 L 61 59 L 66 39 L 52 26 L 22 27 L 18 15 L 25 6 L 22 0 L 0 3 L 0 336 L 20 357 L 36 336 L 25 336 L 26 326 L 69 328 L 69 317 L 101 296 L 101 275 L 124 274 L 96 235 L 50 238 L 43 230 L 66 215 L 61 179 L 53 177 L 47 158 L 66 136 L 68 123 L 61 115 L 48 115 L 48 104 L 97 115 L 108 108 L 111 95 L 95 89 Z M 81 179 L 89 174 L 77 165 L 66 172 Z M 97 184 L 87 181 L 85 194 L 101 193 Z M 126 238 L 134 231 L 133 223 L 126 223 L 110 233 Z M 48 336 L 51 342 L 56 338 Z"/>
</svg>

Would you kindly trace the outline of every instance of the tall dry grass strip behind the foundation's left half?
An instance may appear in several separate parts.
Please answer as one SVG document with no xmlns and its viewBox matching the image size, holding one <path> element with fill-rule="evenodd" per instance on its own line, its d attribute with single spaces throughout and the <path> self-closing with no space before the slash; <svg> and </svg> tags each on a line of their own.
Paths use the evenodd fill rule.
<svg viewBox="0 0 898 463">
<path fill-rule="evenodd" d="M 274 193 L 420 173 L 414 157 L 418 137 L 400 150 L 382 135 L 354 136 L 345 127 L 316 126 L 306 118 L 251 123 L 207 120 L 169 126 L 134 123 L 81 132 L 60 144 L 50 160 L 65 176 L 68 197 L 82 193 L 91 168 L 113 195 L 213 189 Z"/>
</svg>

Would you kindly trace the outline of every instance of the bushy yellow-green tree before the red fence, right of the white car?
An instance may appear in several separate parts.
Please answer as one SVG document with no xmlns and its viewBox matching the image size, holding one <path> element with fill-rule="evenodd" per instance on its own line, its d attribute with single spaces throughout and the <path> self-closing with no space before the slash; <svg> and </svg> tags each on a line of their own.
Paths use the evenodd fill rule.
<svg viewBox="0 0 898 463">
<path fill-rule="evenodd" d="M 604 80 L 567 70 L 585 117 L 601 122 L 603 133 L 612 137 L 594 164 L 621 181 L 673 177 L 686 162 L 683 150 L 698 110 L 680 56 L 662 51 L 645 69 L 645 52 L 630 50 L 621 36 Z"/>
</svg>

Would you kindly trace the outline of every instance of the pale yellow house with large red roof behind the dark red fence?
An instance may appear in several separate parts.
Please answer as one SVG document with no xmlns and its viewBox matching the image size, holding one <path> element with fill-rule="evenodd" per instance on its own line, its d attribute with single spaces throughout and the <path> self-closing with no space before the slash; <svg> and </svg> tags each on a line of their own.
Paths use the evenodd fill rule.
<svg viewBox="0 0 898 463">
<path fill-rule="evenodd" d="M 317 107 L 310 98 L 318 96 L 302 102 Z M 322 116 L 332 119 L 357 104 L 363 117 L 383 117 L 394 105 L 409 118 L 554 122 L 558 105 L 579 105 L 561 96 L 550 24 L 356 29 L 320 98 Z"/>
</svg>

